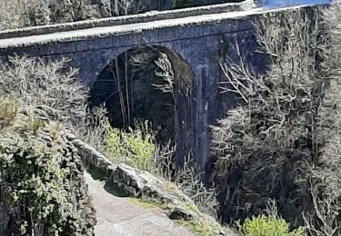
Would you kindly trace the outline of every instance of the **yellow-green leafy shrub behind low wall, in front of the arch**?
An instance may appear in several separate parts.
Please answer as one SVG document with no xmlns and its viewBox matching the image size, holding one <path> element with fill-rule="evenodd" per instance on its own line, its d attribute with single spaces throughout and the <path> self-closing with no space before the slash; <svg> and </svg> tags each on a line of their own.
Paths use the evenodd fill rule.
<svg viewBox="0 0 341 236">
<path fill-rule="evenodd" d="M 155 134 L 148 122 L 129 127 L 127 132 L 113 128 L 109 123 L 105 128 L 105 152 L 116 162 L 127 162 L 135 168 L 150 171 L 151 157 L 155 152 Z"/>
</svg>

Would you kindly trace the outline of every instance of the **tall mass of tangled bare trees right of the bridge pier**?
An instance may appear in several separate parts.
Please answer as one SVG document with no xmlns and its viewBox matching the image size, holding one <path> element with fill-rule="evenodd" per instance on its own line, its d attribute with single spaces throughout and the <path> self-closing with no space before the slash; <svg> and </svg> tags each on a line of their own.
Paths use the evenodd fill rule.
<svg viewBox="0 0 341 236">
<path fill-rule="evenodd" d="M 337 6 L 265 15 L 257 33 L 266 74 L 240 48 L 239 62 L 222 62 L 225 89 L 240 99 L 213 127 L 224 221 L 261 215 L 274 199 L 309 235 L 341 233 L 340 17 Z"/>
</svg>

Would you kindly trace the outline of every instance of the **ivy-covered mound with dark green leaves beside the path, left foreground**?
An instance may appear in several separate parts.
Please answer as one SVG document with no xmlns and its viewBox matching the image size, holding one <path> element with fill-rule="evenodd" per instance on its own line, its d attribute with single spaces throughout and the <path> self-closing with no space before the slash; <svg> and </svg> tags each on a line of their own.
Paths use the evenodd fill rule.
<svg viewBox="0 0 341 236">
<path fill-rule="evenodd" d="M 0 103 L 7 99 L 0 98 Z M 92 235 L 95 212 L 80 157 L 56 124 L 17 113 L 0 129 L 0 206 L 6 234 Z M 23 112 L 23 111 L 21 111 Z M 57 132 L 57 133 L 55 133 Z"/>
</svg>

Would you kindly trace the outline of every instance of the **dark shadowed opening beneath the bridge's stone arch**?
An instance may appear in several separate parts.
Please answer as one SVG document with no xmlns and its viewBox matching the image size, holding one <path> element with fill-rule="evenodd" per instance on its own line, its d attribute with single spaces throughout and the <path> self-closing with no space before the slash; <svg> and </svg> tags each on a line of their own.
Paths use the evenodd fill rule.
<svg viewBox="0 0 341 236">
<path fill-rule="evenodd" d="M 172 93 L 165 91 L 169 76 Z M 91 88 L 90 105 L 105 103 L 111 125 L 118 128 L 135 119 L 151 121 L 159 129 L 157 142 L 176 143 L 176 162 L 182 165 L 196 143 L 195 87 L 195 75 L 181 55 L 164 46 L 138 46 L 105 66 Z"/>
</svg>

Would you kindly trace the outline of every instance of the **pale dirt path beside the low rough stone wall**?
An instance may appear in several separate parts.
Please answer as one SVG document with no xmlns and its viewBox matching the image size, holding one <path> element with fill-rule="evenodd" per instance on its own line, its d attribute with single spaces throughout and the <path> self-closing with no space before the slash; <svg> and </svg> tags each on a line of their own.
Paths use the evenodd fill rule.
<svg viewBox="0 0 341 236">
<path fill-rule="evenodd" d="M 104 182 L 85 172 L 85 181 L 96 210 L 96 236 L 191 236 L 159 208 L 145 208 L 130 198 L 105 191 Z"/>
</svg>

